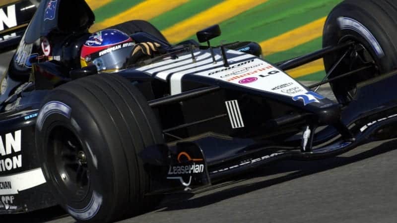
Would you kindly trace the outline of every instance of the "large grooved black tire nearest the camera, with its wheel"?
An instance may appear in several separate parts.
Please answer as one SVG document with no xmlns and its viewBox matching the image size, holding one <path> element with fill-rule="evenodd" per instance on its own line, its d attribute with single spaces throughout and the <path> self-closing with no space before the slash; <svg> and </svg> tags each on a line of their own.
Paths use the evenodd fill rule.
<svg viewBox="0 0 397 223">
<path fill-rule="evenodd" d="M 155 115 L 127 79 L 101 74 L 54 89 L 36 124 L 51 192 L 80 222 L 113 222 L 158 204 L 138 154 L 163 143 Z M 151 198 L 151 197 L 150 197 Z"/>
</svg>

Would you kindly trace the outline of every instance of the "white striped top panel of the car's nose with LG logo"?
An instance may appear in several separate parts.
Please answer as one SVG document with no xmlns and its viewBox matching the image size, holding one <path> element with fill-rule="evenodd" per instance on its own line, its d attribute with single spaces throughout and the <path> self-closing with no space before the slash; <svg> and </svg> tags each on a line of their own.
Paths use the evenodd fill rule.
<svg viewBox="0 0 397 223">
<path fill-rule="evenodd" d="M 265 60 L 242 52 L 227 50 L 229 67 L 224 67 L 221 51 L 213 50 L 215 64 L 212 63 L 210 51 L 201 50 L 201 55 L 196 56 L 197 62 L 193 62 L 193 59 L 189 59 L 191 55 L 186 54 L 178 59 L 167 59 L 140 67 L 138 70 L 156 75 L 156 78 L 164 81 L 169 79 L 171 95 L 182 93 L 182 79 L 187 75 L 216 79 L 245 88 L 288 96 L 291 99 L 308 93 L 299 82 Z M 195 55 L 199 55 L 199 52 L 196 51 Z"/>
</svg>

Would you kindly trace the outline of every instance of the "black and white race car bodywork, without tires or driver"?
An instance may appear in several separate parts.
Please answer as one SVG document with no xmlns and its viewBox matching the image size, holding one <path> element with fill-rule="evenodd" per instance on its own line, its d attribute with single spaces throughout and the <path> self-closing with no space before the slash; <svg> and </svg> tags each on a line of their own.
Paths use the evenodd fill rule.
<svg viewBox="0 0 397 223">
<path fill-rule="evenodd" d="M 45 109 L 43 98 L 86 75 L 77 61 L 89 36 L 84 30 L 94 20 L 84 1 L 73 0 L 82 8 L 77 17 L 85 19 L 77 26 L 64 25 L 62 4 L 71 5 L 65 2 L 71 1 L 42 2 L 1 81 L 1 214 L 56 205 L 36 154 L 35 126 Z M 47 59 L 26 63 L 45 53 L 42 38 L 54 30 L 72 34 L 54 37 Z M 127 78 L 143 93 L 163 129 L 166 143 L 140 154 L 154 182 L 150 194 L 190 191 L 276 160 L 325 158 L 396 137 L 390 85 L 397 72 L 359 83 L 348 105 L 327 99 L 285 72 L 331 52 L 353 51 L 354 42 L 271 64 L 260 58 L 255 43 L 172 46 L 142 32 L 132 39 L 158 42 L 168 51 L 112 74 Z M 61 106 L 55 109 L 63 111 Z"/>
</svg>

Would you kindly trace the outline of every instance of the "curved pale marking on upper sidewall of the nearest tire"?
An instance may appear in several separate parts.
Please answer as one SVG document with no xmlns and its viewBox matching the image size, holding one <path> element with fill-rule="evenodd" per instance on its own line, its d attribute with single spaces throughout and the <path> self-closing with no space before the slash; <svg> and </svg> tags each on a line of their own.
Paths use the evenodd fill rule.
<svg viewBox="0 0 397 223">
<path fill-rule="evenodd" d="M 53 113 L 58 113 L 64 115 L 67 118 L 70 118 L 70 112 L 71 112 L 70 107 L 68 107 L 62 102 L 56 102 L 56 101 L 49 102 L 46 105 L 44 105 L 43 108 L 40 110 L 39 115 L 37 116 L 36 125 L 39 128 L 39 130 L 41 130 L 44 121 L 49 115 Z"/>
</svg>

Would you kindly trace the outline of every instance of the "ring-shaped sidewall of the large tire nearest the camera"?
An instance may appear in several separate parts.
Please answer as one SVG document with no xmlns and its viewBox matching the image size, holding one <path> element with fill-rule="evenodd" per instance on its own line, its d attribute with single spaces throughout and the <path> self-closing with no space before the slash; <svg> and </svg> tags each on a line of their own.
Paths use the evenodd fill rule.
<svg viewBox="0 0 397 223">
<path fill-rule="evenodd" d="M 113 208 L 111 204 L 113 204 L 112 199 L 115 191 L 112 184 L 114 172 L 112 171 L 111 154 L 106 149 L 107 142 L 104 140 L 96 120 L 78 99 L 67 93 L 59 94 L 58 91 L 56 98 L 50 96 L 44 104 L 47 107 L 52 105 L 54 108 L 46 110 L 46 106 L 44 106 L 39 113 L 36 124 L 36 148 L 38 148 L 38 154 L 42 157 L 43 172 L 52 193 L 57 198 L 58 203 L 76 219 L 92 222 L 108 219 L 108 216 L 103 214 L 106 211 L 103 210 Z M 70 108 L 69 114 L 58 111 L 55 107 L 57 104 Z M 90 184 L 88 194 L 82 201 L 73 201 L 70 197 L 65 196 L 62 182 L 59 182 L 60 176 L 55 176 L 56 170 L 49 165 L 51 161 L 48 160 L 48 155 L 51 146 L 47 142 L 51 130 L 55 126 L 66 127 L 78 136 L 87 156 Z"/>
</svg>

